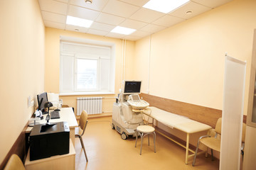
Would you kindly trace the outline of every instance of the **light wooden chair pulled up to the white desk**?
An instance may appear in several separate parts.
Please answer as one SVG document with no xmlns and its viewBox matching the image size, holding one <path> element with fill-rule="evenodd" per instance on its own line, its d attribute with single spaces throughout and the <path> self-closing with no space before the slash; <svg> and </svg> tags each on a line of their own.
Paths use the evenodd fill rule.
<svg viewBox="0 0 256 170">
<path fill-rule="evenodd" d="M 82 111 L 82 114 L 81 114 L 80 119 L 79 119 L 79 127 L 75 128 L 75 137 L 78 137 L 80 139 L 82 149 L 83 149 L 84 152 L 85 152 L 85 145 L 82 141 L 82 135 L 85 133 L 85 128 L 86 128 L 87 123 L 88 123 L 87 118 L 88 118 L 88 115 L 87 115 L 86 111 Z M 82 132 L 81 132 L 81 130 L 82 130 Z M 86 152 L 85 152 L 85 158 L 86 158 L 86 161 L 88 162 Z"/>
</svg>

